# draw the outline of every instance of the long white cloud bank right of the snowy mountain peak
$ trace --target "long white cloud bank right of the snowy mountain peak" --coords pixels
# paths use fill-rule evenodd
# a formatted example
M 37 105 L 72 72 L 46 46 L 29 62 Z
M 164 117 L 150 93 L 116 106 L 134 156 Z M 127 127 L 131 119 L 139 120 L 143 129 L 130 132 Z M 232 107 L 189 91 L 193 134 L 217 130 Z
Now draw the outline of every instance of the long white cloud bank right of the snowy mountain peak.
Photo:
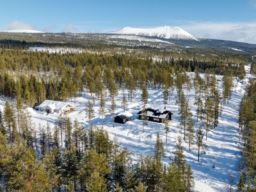
M 180 26 L 195 36 L 256 44 L 256 22 L 191 22 Z

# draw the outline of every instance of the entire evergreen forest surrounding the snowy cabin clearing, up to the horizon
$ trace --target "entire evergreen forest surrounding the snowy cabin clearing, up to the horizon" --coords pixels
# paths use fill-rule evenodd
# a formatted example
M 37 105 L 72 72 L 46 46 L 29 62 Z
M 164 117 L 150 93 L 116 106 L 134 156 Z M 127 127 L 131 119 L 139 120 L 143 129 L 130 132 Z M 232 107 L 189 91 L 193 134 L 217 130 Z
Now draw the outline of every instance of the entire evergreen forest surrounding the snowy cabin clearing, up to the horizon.
M 196 143 L 200 161 L 207 133 L 218 126 L 221 109 L 232 97 L 232 79 L 243 81 L 248 63 L 252 63 L 252 74 L 256 70 L 255 52 L 216 49 L 213 45 L 188 48 L 182 46 L 185 43 L 189 44 L 142 45 L 104 34 L 0 33 L 0 97 L 5 102 L 0 110 L 0 190 L 193 191 L 193 172 L 182 142 L 189 143 L 189 150 Z M 222 92 L 218 81 L 223 82 Z M 147 88 L 163 89 L 164 104 L 173 88 L 177 89 L 182 137 L 177 138 L 173 159 L 166 157 L 165 141 L 159 134 L 154 154 L 141 154 L 134 162 L 129 148 L 120 147 L 118 136 L 111 139 L 103 122 L 102 127 L 91 123 L 84 127 L 60 115 L 54 129 L 49 125 L 35 127 L 26 111 L 45 99 L 76 102 L 86 92 L 99 100 L 102 116 L 106 112 L 104 99 L 110 95 L 109 111 L 114 115 L 119 90 L 128 92 L 122 102 L 125 111 L 136 90 L 141 90 L 141 103 L 147 105 Z M 196 132 L 185 97 L 190 88 L 195 89 L 197 122 L 201 122 Z M 93 101 L 84 106 L 89 120 L 93 118 L 92 106 Z M 256 188 L 255 113 L 256 83 L 251 79 L 237 119 L 243 143 L 239 146 L 237 191 Z M 166 122 L 166 138 L 169 128 Z M 168 164 L 163 159 L 168 159 Z

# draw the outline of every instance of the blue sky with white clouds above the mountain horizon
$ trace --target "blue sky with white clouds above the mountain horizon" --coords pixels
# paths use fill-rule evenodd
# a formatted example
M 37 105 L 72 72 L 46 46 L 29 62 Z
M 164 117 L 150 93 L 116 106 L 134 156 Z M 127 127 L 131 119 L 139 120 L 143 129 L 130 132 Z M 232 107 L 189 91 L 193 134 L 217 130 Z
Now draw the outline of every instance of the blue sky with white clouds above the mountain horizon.
M 1 0 L 0 8 L 0 30 L 178 26 L 195 36 L 256 44 L 256 0 Z

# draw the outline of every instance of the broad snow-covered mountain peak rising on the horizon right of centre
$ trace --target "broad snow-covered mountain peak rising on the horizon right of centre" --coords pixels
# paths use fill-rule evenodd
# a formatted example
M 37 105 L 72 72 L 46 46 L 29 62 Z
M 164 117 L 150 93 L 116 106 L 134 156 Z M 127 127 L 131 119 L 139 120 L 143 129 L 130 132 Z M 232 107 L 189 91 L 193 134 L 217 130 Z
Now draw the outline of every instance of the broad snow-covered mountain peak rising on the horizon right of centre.
M 184 40 L 199 40 L 198 37 L 180 29 L 178 27 L 163 26 L 157 28 L 122 28 L 109 33 L 123 35 L 141 35 L 141 36 L 157 36 L 160 38 L 175 38 Z

